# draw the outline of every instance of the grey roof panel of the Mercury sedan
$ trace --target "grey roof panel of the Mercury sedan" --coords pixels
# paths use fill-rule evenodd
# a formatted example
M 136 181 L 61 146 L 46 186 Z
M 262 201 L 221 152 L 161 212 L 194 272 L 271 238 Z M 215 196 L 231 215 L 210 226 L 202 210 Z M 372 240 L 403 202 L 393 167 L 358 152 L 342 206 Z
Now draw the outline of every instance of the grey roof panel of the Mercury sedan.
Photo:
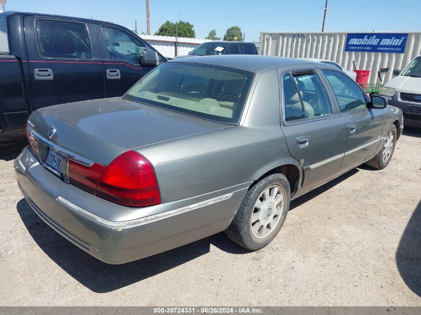
M 220 56 L 198 56 L 183 59 L 175 59 L 172 62 L 196 63 L 226 68 L 233 68 L 248 72 L 257 73 L 266 69 L 313 65 L 312 62 L 303 59 L 285 58 L 276 56 L 261 55 L 220 55 Z

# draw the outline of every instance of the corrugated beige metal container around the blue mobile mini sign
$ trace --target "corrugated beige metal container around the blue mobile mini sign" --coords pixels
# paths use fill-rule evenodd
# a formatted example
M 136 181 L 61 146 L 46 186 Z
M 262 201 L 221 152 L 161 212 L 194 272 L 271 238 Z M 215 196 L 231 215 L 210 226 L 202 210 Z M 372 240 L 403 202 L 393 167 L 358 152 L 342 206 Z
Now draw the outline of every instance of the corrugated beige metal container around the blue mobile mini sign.
M 378 33 L 398 32 L 373 32 L 373 34 Z M 291 58 L 328 59 L 348 70 L 354 70 L 352 61 L 355 60 L 357 69 L 371 70 L 369 83 L 380 83 L 377 72 L 381 68 L 390 68 L 384 78 L 384 83 L 388 82 L 392 79 L 394 69 L 402 70 L 413 58 L 421 54 L 421 32 L 408 32 L 405 53 L 403 54 L 345 51 L 347 34 L 342 32 L 261 32 L 259 54 Z

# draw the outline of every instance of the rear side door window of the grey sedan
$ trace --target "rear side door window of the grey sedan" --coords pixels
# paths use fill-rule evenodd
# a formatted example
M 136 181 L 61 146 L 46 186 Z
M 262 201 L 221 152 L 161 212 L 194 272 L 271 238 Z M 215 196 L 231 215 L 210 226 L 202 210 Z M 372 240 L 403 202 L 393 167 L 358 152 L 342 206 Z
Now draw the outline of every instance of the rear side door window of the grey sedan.
M 285 75 L 283 95 L 285 121 L 332 113 L 326 90 L 313 71 Z

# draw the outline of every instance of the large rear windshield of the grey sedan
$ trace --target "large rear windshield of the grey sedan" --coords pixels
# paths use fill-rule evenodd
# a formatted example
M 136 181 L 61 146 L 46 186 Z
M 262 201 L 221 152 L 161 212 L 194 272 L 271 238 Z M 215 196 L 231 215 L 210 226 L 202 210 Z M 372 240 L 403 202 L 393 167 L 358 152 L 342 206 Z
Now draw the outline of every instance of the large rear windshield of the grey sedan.
M 230 68 L 168 62 L 144 76 L 125 99 L 236 124 L 253 74 Z

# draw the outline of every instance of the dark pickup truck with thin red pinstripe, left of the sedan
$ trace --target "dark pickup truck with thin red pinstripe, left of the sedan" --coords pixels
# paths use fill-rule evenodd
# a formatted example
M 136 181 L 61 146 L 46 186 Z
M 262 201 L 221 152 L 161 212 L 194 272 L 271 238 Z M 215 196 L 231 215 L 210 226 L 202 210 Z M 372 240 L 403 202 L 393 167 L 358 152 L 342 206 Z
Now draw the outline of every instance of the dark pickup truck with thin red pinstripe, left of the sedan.
M 0 13 L 0 132 L 41 107 L 122 96 L 166 59 L 129 29 L 75 17 Z

